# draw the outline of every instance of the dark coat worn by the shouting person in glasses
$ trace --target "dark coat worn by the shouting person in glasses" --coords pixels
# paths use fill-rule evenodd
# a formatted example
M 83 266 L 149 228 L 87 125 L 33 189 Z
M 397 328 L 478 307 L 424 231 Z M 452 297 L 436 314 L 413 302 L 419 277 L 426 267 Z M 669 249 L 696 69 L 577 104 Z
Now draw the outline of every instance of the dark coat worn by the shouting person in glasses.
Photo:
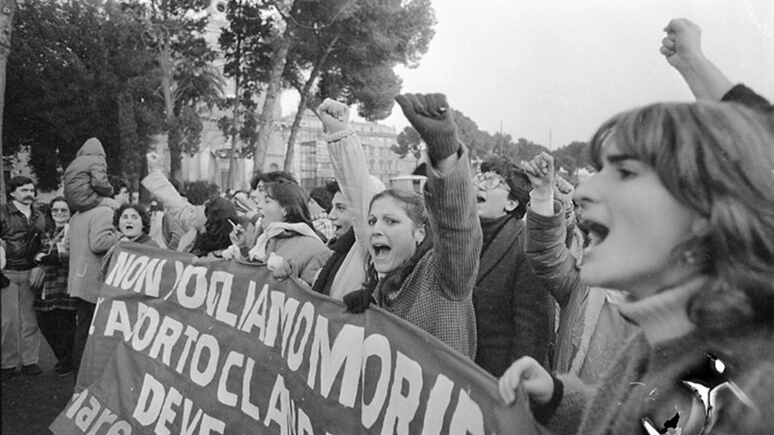
M 531 356 L 548 367 L 555 305 L 524 254 L 524 221 L 509 219 L 481 253 L 473 304 L 476 364 L 501 376 L 511 363 Z

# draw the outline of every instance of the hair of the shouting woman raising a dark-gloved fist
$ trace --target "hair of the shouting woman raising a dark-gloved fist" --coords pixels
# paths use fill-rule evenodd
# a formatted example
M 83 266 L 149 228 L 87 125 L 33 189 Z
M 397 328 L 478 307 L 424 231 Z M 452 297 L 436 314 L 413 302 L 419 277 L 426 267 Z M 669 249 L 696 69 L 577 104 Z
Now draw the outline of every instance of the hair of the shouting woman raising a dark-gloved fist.
M 377 284 L 381 281 L 381 293 L 382 295 L 393 293 L 397 291 L 403 282 L 408 278 L 411 272 L 414 271 L 414 267 L 419 260 L 427 254 L 433 248 L 433 232 L 432 227 L 428 221 L 427 209 L 425 208 L 425 200 L 422 195 L 414 192 L 409 192 L 401 189 L 387 189 L 383 190 L 371 199 L 370 208 L 373 207 L 374 202 L 382 198 L 394 199 L 408 215 L 409 219 L 414 222 L 414 225 L 419 228 L 425 226 L 425 238 L 417 245 L 416 251 L 411 258 L 404 261 L 400 266 L 394 270 L 387 272 L 387 274 L 379 280 L 376 273 L 376 269 L 373 263 L 368 262 L 368 269 L 366 270 L 366 279 L 363 283 L 363 288 L 371 292 L 376 289 Z

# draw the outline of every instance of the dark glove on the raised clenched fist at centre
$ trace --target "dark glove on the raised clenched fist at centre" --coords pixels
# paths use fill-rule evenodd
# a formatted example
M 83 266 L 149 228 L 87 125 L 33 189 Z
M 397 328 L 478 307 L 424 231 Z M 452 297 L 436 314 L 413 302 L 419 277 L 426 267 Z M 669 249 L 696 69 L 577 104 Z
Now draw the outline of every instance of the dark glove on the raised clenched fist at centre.
M 427 155 L 433 166 L 459 151 L 457 124 L 446 102 L 446 95 L 403 94 L 396 95 L 395 101 L 427 144 Z

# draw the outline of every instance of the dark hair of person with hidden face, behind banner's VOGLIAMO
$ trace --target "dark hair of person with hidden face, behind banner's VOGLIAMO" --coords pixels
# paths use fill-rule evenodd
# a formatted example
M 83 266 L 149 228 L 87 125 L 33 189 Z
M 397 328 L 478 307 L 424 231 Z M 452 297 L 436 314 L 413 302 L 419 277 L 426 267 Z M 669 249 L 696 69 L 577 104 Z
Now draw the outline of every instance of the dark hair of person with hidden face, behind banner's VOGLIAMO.
M 207 218 L 204 224 L 205 232 L 196 236 L 191 249 L 191 253 L 199 257 L 228 248 L 231 245 L 229 234 L 233 229 L 229 221 L 235 224 L 239 222 L 234 204 L 219 196 L 205 203 L 204 215 Z

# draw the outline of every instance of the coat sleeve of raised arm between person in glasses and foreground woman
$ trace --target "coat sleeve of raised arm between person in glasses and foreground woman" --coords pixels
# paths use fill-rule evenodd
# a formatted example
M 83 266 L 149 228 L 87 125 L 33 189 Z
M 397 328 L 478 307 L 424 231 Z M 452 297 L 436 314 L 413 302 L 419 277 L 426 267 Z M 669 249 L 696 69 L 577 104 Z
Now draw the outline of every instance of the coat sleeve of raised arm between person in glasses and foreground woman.
M 582 285 L 575 257 L 565 246 L 566 236 L 564 212 L 558 202 L 554 202 L 553 216 L 542 216 L 527 208 L 527 262 L 562 309 Z

